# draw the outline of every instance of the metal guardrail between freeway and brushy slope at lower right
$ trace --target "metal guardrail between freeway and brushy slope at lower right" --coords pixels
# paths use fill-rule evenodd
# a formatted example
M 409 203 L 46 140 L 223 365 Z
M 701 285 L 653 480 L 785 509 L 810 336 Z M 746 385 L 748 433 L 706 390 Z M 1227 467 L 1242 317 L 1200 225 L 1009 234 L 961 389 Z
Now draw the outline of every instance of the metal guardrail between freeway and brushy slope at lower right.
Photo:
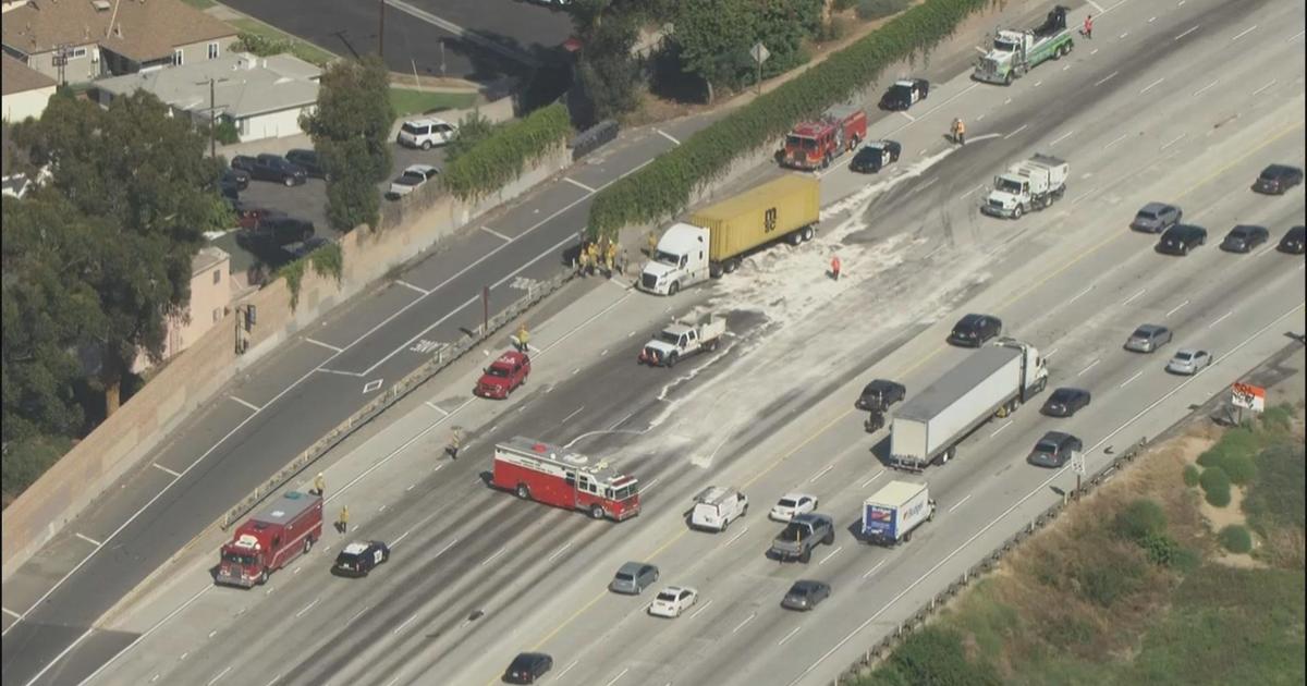
M 1070 493 L 1063 494 L 1061 500 L 1053 503 L 1051 507 L 1048 507 L 1039 515 L 1035 515 L 1035 517 L 1027 521 L 1021 531 L 1008 537 L 1008 540 L 1005 540 L 1002 544 L 995 547 L 988 555 L 985 555 L 984 559 L 982 559 L 976 564 L 972 564 L 966 571 L 963 571 L 962 575 L 954 579 L 953 583 L 950 583 L 944 591 L 936 593 L 931 598 L 931 602 L 928 602 L 924 608 L 918 610 L 916 614 L 908 617 L 906 621 L 895 626 L 893 634 L 885 636 L 878 643 L 868 648 L 863 653 L 863 657 L 853 661 L 853 664 L 851 664 L 847 669 L 844 669 L 844 672 L 842 672 L 839 676 L 835 677 L 834 682 L 835 686 L 839 686 L 840 682 L 853 682 L 857 678 L 867 676 L 867 673 L 873 666 L 876 666 L 881 660 L 889 657 L 890 652 L 894 648 L 897 648 L 908 636 L 908 634 L 924 626 L 925 621 L 932 614 L 935 614 L 938 609 L 944 608 L 944 605 L 949 601 L 949 598 L 961 593 L 967 587 L 967 584 L 975 581 L 985 572 L 993 571 L 999 566 L 999 562 L 1002 559 L 1002 557 L 1010 553 L 1013 549 L 1016 549 L 1017 545 L 1019 545 L 1026 538 L 1034 536 L 1035 532 L 1038 532 L 1039 529 L 1052 523 L 1055 519 L 1057 519 L 1057 515 L 1061 515 L 1064 511 L 1067 511 L 1067 508 L 1078 502 L 1080 498 L 1087 495 L 1098 486 L 1106 483 L 1110 478 L 1112 478 L 1116 474 L 1117 470 L 1133 463 L 1134 459 L 1138 457 L 1138 455 L 1144 451 L 1145 446 L 1148 446 L 1148 439 L 1141 438 L 1137 443 L 1127 448 L 1125 452 L 1120 453 L 1115 460 L 1108 463 L 1107 466 L 1104 466 L 1102 470 L 1099 470 L 1097 474 L 1089 478 L 1089 481 L 1082 483 L 1080 494 L 1070 494 Z

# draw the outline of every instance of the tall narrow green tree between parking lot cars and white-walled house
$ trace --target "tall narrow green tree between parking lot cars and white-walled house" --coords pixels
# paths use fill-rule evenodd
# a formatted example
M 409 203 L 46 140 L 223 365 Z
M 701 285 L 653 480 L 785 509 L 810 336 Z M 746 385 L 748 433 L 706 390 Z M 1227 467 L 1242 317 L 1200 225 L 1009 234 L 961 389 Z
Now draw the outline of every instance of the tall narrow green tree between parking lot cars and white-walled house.
M 327 68 L 318 108 L 299 124 L 323 157 L 328 220 L 336 229 L 376 226 L 380 200 L 374 184 L 391 172 L 393 123 L 389 80 L 380 57 L 370 55 Z

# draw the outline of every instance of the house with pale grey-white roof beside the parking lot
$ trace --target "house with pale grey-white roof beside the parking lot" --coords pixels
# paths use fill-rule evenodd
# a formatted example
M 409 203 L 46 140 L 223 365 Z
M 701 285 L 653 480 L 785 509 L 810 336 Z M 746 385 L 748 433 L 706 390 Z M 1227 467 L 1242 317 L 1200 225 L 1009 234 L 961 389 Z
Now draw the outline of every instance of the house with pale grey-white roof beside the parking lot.
M 103 78 L 95 82 L 95 97 L 107 106 L 116 97 L 146 90 L 174 112 L 201 123 L 216 112 L 220 120 L 235 124 L 242 141 L 254 141 L 301 133 L 299 115 L 316 107 L 319 78 L 320 68 L 293 55 L 233 54 Z

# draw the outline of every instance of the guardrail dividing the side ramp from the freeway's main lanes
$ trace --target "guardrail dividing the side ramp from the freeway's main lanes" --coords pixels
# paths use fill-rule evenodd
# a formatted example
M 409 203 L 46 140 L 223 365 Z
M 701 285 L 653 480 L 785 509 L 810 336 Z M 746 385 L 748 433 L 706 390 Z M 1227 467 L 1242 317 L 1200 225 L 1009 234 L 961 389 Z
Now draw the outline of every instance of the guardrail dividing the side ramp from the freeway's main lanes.
M 561 289 L 565 284 L 571 281 L 574 276 L 574 270 L 566 269 L 548 281 L 531 282 L 527 289 L 527 295 L 514 301 L 508 304 L 508 307 L 491 316 L 486 324 L 478 327 L 474 336 L 465 337 L 457 344 L 440 346 L 431 359 L 422 363 L 422 366 L 409 372 L 408 376 L 404 376 L 393 385 L 383 391 L 379 396 L 372 399 L 371 402 L 363 405 L 358 412 L 336 425 L 335 429 L 324 434 L 314 442 L 312 446 L 297 455 L 295 459 L 293 459 L 286 466 L 277 470 L 277 473 L 268 478 L 268 481 L 263 482 L 259 487 L 237 503 L 235 507 L 229 510 L 218 521 L 218 527 L 223 531 L 230 528 L 240 517 L 246 516 L 260 502 L 263 502 L 264 498 L 280 490 L 288 481 L 294 478 L 295 474 L 303 472 L 306 466 L 316 461 L 323 455 L 327 455 L 328 451 L 349 438 L 349 435 L 357 431 L 361 426 L 376 418 L 376 416 L 386 412 L 391 405 L 399 402 L 400 399 L 409 395 L 442 370 L 456 362 L 464 353 L 476 348 L 481 344 L 481 341 L 485 341 L 494 335 L 494 332 L 518 319 L 523 312 L 542 301 L 546 295 Z

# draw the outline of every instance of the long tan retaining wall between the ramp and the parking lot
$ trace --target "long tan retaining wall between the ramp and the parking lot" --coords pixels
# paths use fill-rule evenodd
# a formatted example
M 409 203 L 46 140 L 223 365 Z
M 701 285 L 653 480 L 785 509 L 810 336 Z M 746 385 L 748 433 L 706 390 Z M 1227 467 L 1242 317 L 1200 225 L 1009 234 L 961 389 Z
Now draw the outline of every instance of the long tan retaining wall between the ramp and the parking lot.
M 431 192 L 423 199 L 414 199 L 429 204 L 425 212 L 413 212 L 420 208 L 410 205 L 403 214 L 387 217 L 393 223 L 383 220 L 379 231 L 367 227 L 350 231 L 340 242 L 344 253 L 341 281 L 319 276 L 312 267 L 306 267 L 299 303 L 294 310 L 284 278 L 242 299 L 239 304 L 257 308 L 257 324 L 247 335 L 250 346 L 244 355 L 235 353 L 238 318 L 233 311 L 173 358 L 145 388 L 5 508 L 0 533 L 3 579 L 8 579 L 106 489 L 140 466 L 144 457 L 242 370 L 383 278 L 391 269 L 448 239 L 472 218 L 528 192 L 569 163 L 569 150 L 559 144 L 531 165 L 516 182 L 488 197 L 463 203 Z M 192 457 L 199 460 L 201 455 Z

